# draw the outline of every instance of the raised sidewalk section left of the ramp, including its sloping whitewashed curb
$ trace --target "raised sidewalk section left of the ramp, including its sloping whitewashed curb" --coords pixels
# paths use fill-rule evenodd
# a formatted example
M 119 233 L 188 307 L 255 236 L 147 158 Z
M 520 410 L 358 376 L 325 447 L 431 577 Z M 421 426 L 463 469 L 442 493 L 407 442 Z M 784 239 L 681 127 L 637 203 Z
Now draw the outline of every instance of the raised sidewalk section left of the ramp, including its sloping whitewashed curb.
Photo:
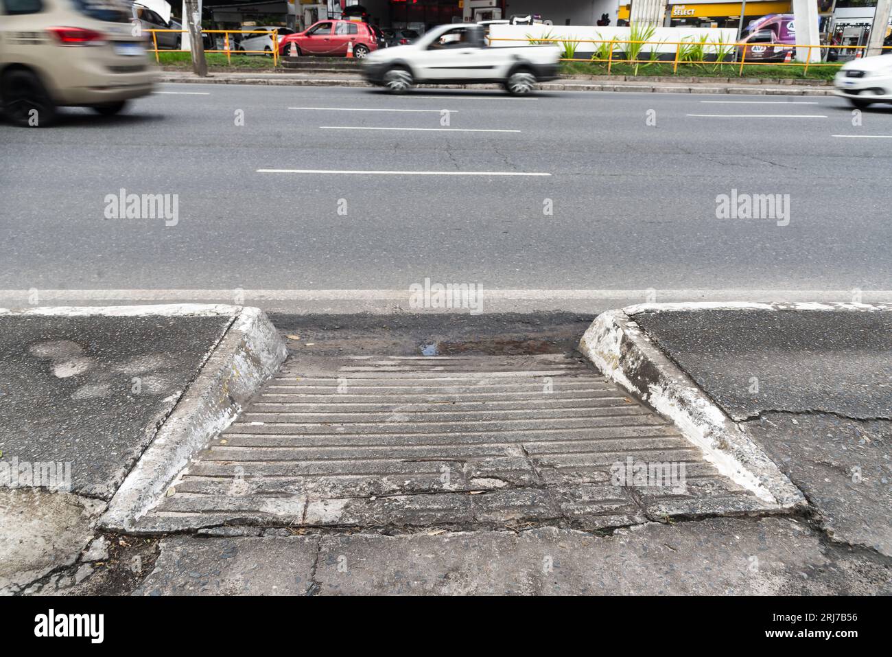
M 285 359 L 240 306 L 0 310 L 0 328 L 2 594 L 86 578 L 106 501 L 106 526 L 129 518 Z

